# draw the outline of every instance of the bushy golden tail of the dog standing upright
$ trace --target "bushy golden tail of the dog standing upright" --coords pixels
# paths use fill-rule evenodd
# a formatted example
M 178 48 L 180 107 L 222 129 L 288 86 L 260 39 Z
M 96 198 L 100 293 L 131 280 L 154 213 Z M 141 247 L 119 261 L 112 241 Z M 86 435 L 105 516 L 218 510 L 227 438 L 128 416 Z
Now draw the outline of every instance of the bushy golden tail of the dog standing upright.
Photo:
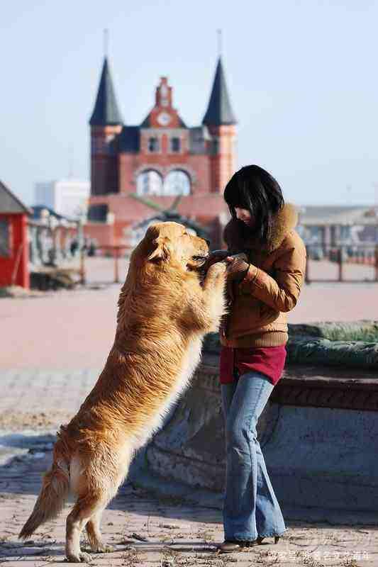
M 50 471 L 43 477 L 40 495 L 28 521 L 21 529 L 18 536 L 20 539 L 28 539 L 40 524 L 54 520 L 62 511 L 70 490 L 70 476 L 68 469 L 60 465 L 61 462 L 57 460 L 57 446 L 55 445 L 54 462 Z

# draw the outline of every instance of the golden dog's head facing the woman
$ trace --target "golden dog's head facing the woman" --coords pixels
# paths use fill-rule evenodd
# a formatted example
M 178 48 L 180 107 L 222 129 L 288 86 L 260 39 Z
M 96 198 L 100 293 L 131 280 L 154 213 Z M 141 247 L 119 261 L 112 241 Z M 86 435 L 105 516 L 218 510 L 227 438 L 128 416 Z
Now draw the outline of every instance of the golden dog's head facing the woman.
M 206 240 L 191 235 L 184 225 L 172 222 L 151 225 L 138 249 L 143 262 L 177 267 L 179 264 L 185 270 L 201 269 L 209 255 Z

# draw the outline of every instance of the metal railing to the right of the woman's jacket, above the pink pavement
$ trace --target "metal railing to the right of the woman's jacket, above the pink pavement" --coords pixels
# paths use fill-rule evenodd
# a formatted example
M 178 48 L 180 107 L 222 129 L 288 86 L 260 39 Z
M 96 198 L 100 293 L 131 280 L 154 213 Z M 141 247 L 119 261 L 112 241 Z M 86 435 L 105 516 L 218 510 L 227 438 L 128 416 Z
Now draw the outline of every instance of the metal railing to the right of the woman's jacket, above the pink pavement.
M 378 282 L 378 245 L 306 245 L 306 283 Z M 333 267 L 335 269 L 333 269 Z

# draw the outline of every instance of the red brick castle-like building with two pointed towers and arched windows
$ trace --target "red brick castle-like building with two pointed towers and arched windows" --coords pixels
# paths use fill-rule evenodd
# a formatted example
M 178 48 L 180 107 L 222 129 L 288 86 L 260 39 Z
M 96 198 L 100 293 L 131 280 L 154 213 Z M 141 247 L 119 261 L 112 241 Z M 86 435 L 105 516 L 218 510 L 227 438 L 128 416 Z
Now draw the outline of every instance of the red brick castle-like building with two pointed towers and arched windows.
M 153 211 L 132 195 L 168 207 L 209 229 L 220 244 L 228 211 L 223 189 L 235 171 L 235 116 L 221 58 L 201 125 L 188 127 L 160 79 L 155 104 L 140 125 L 126 125 L 105 58 L 91 126 L 91 198 L 87 235 L 99 244 L 127 244 L 130 227 Z

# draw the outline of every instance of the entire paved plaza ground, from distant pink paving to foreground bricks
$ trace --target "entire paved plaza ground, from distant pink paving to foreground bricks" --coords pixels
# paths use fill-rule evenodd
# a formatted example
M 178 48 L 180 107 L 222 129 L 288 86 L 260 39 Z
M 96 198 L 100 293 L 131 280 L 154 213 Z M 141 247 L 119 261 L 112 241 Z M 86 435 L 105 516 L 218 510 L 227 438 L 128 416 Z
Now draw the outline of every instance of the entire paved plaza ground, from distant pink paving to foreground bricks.
M 111 279 L 92 264 L 91 284 Z M 124 266 L 123 266 L 124 270 Z M 108 276 L 109 274 L 109 276 Z M 90 390 L 113 341 L 120 286 L 0 300 L 0 563 L 61 564 L 64 521 L 16 539 L 33 507 L 40 476 L 51 459 L 53 434 Z M 311 284 L 291 322 L 378 319 L 377 284 Z M 217 510 L 152 497 L 125 485 L 106 510 L 104 533 L 116 552 L 93 556 L 104 566 L 377 566 L 378 531 L 372 526 L 289 522 L 277 546 L 263 544 L 231 556 L 216 554 L 223 539 Z M 140 537 L 148 541 L 140 541 Z

